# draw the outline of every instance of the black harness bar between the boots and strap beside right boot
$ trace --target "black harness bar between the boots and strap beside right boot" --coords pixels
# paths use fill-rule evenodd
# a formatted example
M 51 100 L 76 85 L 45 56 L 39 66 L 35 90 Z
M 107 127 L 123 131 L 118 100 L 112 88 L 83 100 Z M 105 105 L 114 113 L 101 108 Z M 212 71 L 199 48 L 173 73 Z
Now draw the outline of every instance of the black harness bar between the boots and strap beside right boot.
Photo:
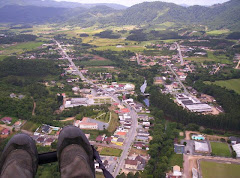
M 99 153 L 97 150 L 94 148 L 92 145 L 93 149 L 93 159 L 99 164 L 99 168 L 102 169 L 103 175 L 105 178 L 113 178 L 113 176 L 110 174 L 110 172 L 105 168 L 105 166 L 102 163 L 102 160 L 99 156 Z M 38 164 L 43 165 L 43 164 L 48 164 L 48 163 L 53 163 L 57 162 L 57 152 L 48 152 L 48 153 L 42 153 L 38 155 Z

